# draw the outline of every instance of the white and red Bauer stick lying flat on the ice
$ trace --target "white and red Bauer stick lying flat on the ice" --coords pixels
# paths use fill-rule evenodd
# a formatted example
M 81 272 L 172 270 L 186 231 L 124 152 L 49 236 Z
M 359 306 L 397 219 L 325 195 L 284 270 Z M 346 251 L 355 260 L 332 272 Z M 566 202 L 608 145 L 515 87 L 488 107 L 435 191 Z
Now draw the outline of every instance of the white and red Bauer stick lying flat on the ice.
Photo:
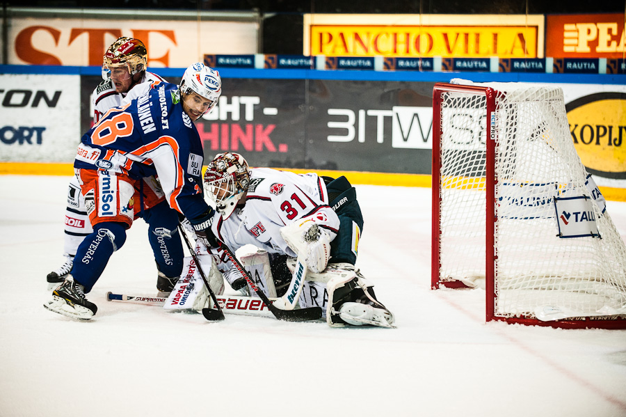
M 216 295 L 218 303 L 224 313 L 236 315 L 248 315 L 255 317 L 274 317 L 266 304 L 259 297 L 248 297 L 244 295 Z M 144 306 L 161 306 L 168 301 L 166 297 L 145 297 L 143 295 L 106 293 L 107 301 L 120 301 L 130 304 L 143 304 Z M 270 301 L 275 300 L 271 298 Z M 213 304 L 213 300 L 211 300 Z M 179 309 L 184 311 L 185 309 Z M 173 309 L 172 311 L 176 311 Z

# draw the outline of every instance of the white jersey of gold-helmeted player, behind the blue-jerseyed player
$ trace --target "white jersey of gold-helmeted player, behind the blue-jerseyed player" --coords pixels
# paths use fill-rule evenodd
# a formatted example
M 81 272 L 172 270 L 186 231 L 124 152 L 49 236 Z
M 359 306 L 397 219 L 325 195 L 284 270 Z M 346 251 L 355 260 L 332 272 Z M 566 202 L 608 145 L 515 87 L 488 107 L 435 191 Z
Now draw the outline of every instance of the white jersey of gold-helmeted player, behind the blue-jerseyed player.
M 98 123 L 102 115 L 113 109 L 131 102 L 140 95 L 144 95 L 153 83 L 166 82 L 165 79 L 153 72 L 144 72 L 141 80 L 132 86 L 127 93 L 118 93 L 111 79 L 105 79 L 91 93 L 91 104 L 93 106 L 93 123 Z

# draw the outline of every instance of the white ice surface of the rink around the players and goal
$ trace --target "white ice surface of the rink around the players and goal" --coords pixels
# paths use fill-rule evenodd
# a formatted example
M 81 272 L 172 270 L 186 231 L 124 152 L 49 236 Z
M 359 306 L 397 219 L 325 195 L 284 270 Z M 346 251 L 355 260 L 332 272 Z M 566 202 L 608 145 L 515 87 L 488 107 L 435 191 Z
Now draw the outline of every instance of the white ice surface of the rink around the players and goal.
M 141 220 L 91 322 L 45 310 L 66 188 L 0 175 L 0 416 L 626 416 L 626 331 L 485 324 L 483 290 L 429 289 L 430 189 L 358 186 L 358 266 L 398 329 L 331 329 L 106 301 L 155 294 Z

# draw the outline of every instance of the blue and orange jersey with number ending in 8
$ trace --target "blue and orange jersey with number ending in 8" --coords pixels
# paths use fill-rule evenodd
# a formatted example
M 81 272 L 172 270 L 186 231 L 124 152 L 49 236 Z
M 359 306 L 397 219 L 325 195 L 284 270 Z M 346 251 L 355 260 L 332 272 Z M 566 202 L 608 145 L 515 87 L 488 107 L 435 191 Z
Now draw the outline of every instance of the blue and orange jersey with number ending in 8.
M 81 139 L 74 168 L 159 175 L 168 203 L 188 219 L 209 209 L 202 198 L 202 142 L 178 86 L 159 83 L 107 111 Z

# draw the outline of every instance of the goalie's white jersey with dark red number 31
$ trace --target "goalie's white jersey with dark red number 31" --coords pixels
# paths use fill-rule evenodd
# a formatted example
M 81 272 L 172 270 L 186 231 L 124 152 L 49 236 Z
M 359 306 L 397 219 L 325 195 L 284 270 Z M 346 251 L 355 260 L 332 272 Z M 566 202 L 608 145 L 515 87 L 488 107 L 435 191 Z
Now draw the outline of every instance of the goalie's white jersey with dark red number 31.
M 284 241 L 280 229 L 304 218 L 313 219 L 331 241 L 337 236 L 339 217 L 328 205 L 326 184 L 316 173 L 252 168 L 246 205 L 226 220 L 216 214 L 212 229 L 232 251 L 252 244 L 269 253 L 295 257 L 297 254 Z M 225 261 L 225 257 L 220 258 Z M 224 263 L 227 265 L 220 265 L 220 270 L 232 266 L 230 261 Z

